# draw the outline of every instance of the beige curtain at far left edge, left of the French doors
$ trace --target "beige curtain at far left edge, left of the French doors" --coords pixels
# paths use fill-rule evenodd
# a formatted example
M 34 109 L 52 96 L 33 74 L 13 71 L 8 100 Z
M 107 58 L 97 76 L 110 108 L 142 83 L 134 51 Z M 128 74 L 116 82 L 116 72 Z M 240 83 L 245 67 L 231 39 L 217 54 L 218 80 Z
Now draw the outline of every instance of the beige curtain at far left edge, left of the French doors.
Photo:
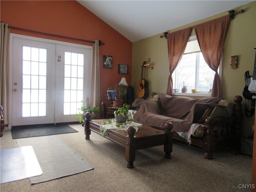
M 0 53 L 1 53 L 1 63 L 0 63 L 0 105 L 3 107 L 4 124 L 8 124 L 8 107 L 9 97 L 8 97 L 8 78 L 9 78 L 9 64 L 8 64 L 8 52 L 9 52 L 9 38 L 10 38 L 10 28 L 8 24 L 0 23 Z

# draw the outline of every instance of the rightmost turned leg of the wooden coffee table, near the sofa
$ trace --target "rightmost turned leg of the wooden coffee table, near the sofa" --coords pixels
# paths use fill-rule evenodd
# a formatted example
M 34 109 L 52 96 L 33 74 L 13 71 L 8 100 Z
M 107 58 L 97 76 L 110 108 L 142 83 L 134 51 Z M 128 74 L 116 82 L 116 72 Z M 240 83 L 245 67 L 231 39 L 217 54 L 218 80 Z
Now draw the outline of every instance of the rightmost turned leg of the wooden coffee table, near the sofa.
M 165 156 L 164 158 L 170 159 L 171 158 L 171 152 L 172 152 L 172 138 L 173 138 L 173 132 L 172 132 L 172 123 L 168 122 L 165 124 L 165 133 L 166 133 L 166 144 L 164 144 L 164 152 Z

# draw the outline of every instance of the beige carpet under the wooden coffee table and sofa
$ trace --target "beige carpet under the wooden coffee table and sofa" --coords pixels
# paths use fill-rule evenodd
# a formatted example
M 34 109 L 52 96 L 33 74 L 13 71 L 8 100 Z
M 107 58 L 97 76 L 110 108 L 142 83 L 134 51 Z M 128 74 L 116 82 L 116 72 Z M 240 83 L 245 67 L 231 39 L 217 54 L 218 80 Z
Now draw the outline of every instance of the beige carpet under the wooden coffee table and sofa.
M 136 151 L 134 168 L 126 168 L 125 149 L 92 132 L 85 140 L 84 127 L 71 125 L 78 133 L 57 135 L 84 158 L 94 170 L 30 184 L 29 179 L 0 185 L 1 192 L 250 192 L 252 160 L 229 151 L 215 152 L 213 160 L 203 152 L 174 144 L 172 158 L 165 159 L 163 146 Z M 0 138 L 1 149 L 17 147 L 10 131 Z

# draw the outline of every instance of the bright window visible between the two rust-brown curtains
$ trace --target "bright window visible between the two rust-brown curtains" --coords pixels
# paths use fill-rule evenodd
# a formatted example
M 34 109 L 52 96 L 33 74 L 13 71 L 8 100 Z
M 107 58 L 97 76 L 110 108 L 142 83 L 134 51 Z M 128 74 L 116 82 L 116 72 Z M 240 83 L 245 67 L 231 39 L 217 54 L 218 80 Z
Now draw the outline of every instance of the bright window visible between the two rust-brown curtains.
M 184 55 L 174 70 L 174 92 L 181 92 L 187 87 L 187 93 L 196 89 L 197 93 L 208 93 L 212 89 L 215 72 L 206 64 L 199 48 L 196 36 L 191 36 L 184 51 Z

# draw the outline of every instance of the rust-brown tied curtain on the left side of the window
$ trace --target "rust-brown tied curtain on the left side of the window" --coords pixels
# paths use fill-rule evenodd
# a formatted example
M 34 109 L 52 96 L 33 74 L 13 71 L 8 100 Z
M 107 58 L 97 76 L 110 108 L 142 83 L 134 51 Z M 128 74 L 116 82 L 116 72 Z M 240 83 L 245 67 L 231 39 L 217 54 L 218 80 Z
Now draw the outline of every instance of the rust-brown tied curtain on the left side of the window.
M 169 70 L 170 70 L 170 75 L 168 78 L 168 85 L 167 85 L 167 94 L 170 96 L 173 95 L 172 73 L 174 72 L 178 63 L 182 59 L 183 53 L 188 43 L 190 31 L 191 31 L 191 28 L 186 28 L 184 30 L 167 34 Z

